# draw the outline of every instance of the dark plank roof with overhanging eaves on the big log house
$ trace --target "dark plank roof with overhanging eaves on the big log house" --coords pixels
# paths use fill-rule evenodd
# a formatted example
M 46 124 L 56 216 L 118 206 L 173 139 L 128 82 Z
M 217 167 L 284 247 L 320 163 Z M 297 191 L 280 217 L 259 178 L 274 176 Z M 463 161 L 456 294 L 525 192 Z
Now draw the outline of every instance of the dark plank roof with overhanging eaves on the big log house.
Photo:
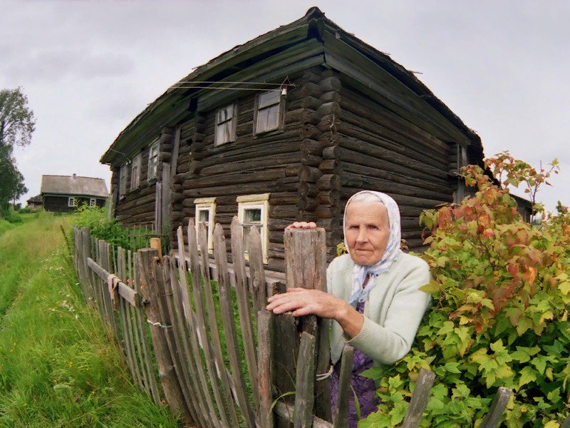
M 311 7 L 301 19 L 279 26 L 245 44 L 234 46 L 229 51 L 195 68 L 192 73 L 170 86 L 119 133 L 108 151 L 100 158 L 100 162 L 108 164 L 123 162 L 125 158 L 129 158 L 129 153 L 125 152 L 130 151 L 131 146 L 140 144 L 140 141 L 147 136 L 156 137 L 162 126 L 172 126 L 181 118 L 190 117 L 192 102 L 198 101 L 199 103 L 199 97 L 207 91 L 212 91 L 204 88 L 190 88 L 189 83 L 201 82 L 199 86 L 208 86 L 210 83 L 203 82 L 224 82 L 225 80 L 227 88 L 231 88 L 232 85 L 237 86 L 230 82 L 237 81 L 237 76 L 243 78 L 241 81 L 246 81 L 252 73 L 246 75 L 242 71 L 247 70 L 248 67 L 259 65 L 259 61 L 288 49 L 294 50 L 295 46 L 308 44 L 311 40 L 318 42 L 321 46 L 320 51 L 317 49 L 314 51 L 313 59 L 316 59 L 318 63 L 337 68 L 343 73 L 351 73 L 350 64 L 358 61 L 359 65 L 362 64 L 374 70 L 374 75 L 368 76 L 371 78 L 370 81 L 363 81 L 367 78 L 363 73 L 351 77 L 357 81 L 360 80 L 368 88 L 371 88 L 371 83 L 376 83 L 372 85 L 373 91 L 387 97 L 398 108 L 411 109 L 417 116 L 418 123 L 430 123 L 430 126 L 432 123 L 437 123 L 436 128 L 441 127 L 438 131 L 443 135 L 442 140 L 471 146 L 471 150 L 477 151 L 477 157 L 482 158 L 480 137 L 465 126 L 465 123 L 445 106 L 413 72 L 393 61 L 390 56 L 341 29 L 340 26 L 327 19 L 317 7 Z M 311 66 L 313 65 L 316 65 L 315 61 L 311 62 Z M 261 72 L 259 74 L 261 76 Z M 375 81 L 375 79 L 378 80 Z M 396 91 L 385 90 L 383 85 L 386 81 L 390 81 L 390 85 L 398 90 L 398 94 L 395 94 Z M 222 92 L 225 95 L 231 91 Z M 442 124 L 443 122 L 447 125 Z M 141 128 L 150 129 L 142 131 Z

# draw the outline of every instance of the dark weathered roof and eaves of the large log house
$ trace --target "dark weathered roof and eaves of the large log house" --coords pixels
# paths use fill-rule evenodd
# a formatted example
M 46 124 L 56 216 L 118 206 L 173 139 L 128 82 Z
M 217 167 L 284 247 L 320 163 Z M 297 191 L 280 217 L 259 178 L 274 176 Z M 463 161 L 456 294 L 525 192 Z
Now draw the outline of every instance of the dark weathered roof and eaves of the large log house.
M 262 34 L 245 44 L 234 46 L 229 51 L 220 54 L 202 66 L 195 68 L 185 78 L 170 86 L 161 96 L 150 103 L 129 125 L 119 133 L 113 144 L 101 156 L 101 163 L 115 163 L 125 158 L 125 151 L 131 144 L 137 141 L 144 141 L 150 135 L 158 135 L 160 127 L 169 126 L 169 122 L 180 121 L 180 116 L 187 116 L 192 110 L 192 99 L 197 101 L 197 97 L 212 88 L 212 82 L 224 83 L 224 88 L 230 89 L 239 86 L 238 82 L 227 81 L 232 76 L 237 76 L 239 71 L 259 63 L 262 59 L 275 54 L 276 52 L 289 49 L 295 44 L 299 44 L 308 38 L 315 38 L 323 44 L 323 54 L 319 57 L 324 65 L 332 66 L 335 62 L 333 51 L 358 52 L 364 61 L 375 63 L 383 73 L 390 75 L 400 82 L 403 98 L 396 99 L 393 94 L 388 94 L 388 98 L 398 105 L 412 101 L 415 106 L 415 114 L 418 120 L 430 121 L 431 118 L 443 116 L 450 127 L 445 129 L 448 135 L 452 135 L 462 146 L 472 146 L 482 155 L 482 143 L 475 131 L 468 128 L 461 119 L 453 113 L 439 98 L 437 98 L 427 86 L 425 86 L 414 74 L 399 63 L 393 61 L 388 54 L 366 44 L 358 39 L 354 34 L 341 29 L 340 26 L 325 17 L 325 14 L 317 7 L 311 7 L 306 14 L 291 22 L 279 26 L 277 29 Z M 329 50 L 331 54 L 329 54 Z M 329 63 L 329 61 L 331 63 Z M 199 83 L 199 84 L 197 84 Z M 192 87 L 195 86 L 195 87 Z M 383 93 L 385 89 L 375 84 L 375 91 Z M 216 86 L 213 86 L 214 88 Z M 408 101 L 403 101 L 403 100 Z M 430 106 L 435 112 L 428 112 L 425 116 L 425 107 Z M 199 109 L 199 106 L 198 106 Z M 166 122 L 166 123 L 165 123 Z M 128 159 L 128 158 L 127 158 Z

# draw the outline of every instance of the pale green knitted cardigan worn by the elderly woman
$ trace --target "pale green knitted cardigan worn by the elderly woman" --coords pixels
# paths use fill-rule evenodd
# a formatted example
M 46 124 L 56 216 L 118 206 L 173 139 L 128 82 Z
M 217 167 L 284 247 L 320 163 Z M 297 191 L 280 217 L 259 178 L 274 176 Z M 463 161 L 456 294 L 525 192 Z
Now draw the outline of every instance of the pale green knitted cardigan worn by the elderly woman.
M 354 262 L 350 255 L 334 259 L 326 271 L 328 292 L 348 302 Z M 341 357 L 343 346 L 372 358 L 376 365 L 400 360 L 412 347 L 415 333 L 430 304 L 430 295 L 418 290 L 430 282 L 430 269 L 422 259 L 402 253 L 390 270 L 376 277 L 376 285 L 364 306 L 364 325 L 348 340 L 338 322 L 331 321 L 331 360 Z

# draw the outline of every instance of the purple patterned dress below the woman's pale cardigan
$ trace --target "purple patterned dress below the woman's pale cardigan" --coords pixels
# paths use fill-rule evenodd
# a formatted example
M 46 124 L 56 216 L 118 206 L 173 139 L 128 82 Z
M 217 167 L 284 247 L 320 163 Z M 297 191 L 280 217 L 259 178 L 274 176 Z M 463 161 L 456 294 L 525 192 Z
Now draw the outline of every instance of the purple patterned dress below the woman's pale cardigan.
M 358 312 L 364 312 L 364 302 L 358 302 L 356 305 Z M 376 384 L 373 379 L 362 377 L 360 374 L 364 370 L 373 367 L 374 362 L 371 358 L 366 357 L 359 350 L 354 350 L 354 359 L 351 374 L 351 387 L 348 391 L 348 428 L 356 428 L 358 424 L 358 415 L 356 414 L 356 404 L 354 395 L 358 397 L 358 406 L 360 407 L 361 419 L 364 419 L 375 412 L 380 404 L 380 399 L 376 396 Z M 336 417 L 336 406 L 338 403 L 338 379 L 341 374 L 341 359 L 339 359 L 333 367 L 331 374 L 331 409 L 333 412 L 333 420 Z

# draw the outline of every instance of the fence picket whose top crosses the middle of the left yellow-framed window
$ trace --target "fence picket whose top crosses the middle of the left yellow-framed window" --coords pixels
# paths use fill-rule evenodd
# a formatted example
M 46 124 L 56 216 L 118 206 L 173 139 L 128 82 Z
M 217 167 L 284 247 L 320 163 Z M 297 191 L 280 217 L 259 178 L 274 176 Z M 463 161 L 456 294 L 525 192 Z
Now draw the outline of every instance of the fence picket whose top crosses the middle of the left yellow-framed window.
M 222 413 L 222 421 L 227 420 L 226 412 L 229 413 L 229 419 L 231 419 L 232 427 L 237 427 L 239 422 L 237 421 L 237 413 L 234 407 L 234 401 L 232 399 L 232 390 L 229 387 L 229 379 L 227 378 L 227 372 L 224 366 L 224 356 L 222 355 L 222 345 L 219 340 L 219 331 L 217 328 L 217 318 L 216 318 L 216 309 L 214 305 L 214 297 L 212 295 L 212 282 L 209 276 L 209 269 L 208 266 L 208 238 L 207 238 L 207 230 L 206 225 L 204 223 L 199 223 L 198 225 L 198 239 L 199 239 L 199 248 L 202 248 L 200 251 L 200 258 L 202 263 L 200 263 L 200 275 L 204 279 L 204 293 L 206 297 L 206 307 L 208 312 L 208 322 L 209 322 L 209 340 L 211 341 L 213 351 L 214 351 L 214 363 L 217 366 L 217 371 L 211 372 L 212 382 L 215 382 L 217 385 L 217 379 L 215 378 L 215 374 L 217 372 L 220 379 L 222 379 L 222 387 L 224 392 L 225 400 L 223 400 L 224 407 L 221 407 L 220 413 Z

